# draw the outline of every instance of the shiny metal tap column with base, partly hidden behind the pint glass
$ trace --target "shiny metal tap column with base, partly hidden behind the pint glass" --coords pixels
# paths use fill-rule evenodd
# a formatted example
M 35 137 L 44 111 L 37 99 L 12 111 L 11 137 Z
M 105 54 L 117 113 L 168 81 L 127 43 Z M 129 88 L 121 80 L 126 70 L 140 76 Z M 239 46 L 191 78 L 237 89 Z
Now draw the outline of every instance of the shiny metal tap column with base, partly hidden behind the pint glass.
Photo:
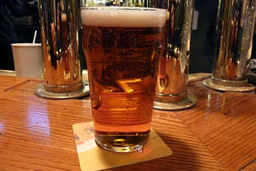
M 186 89 L 194 1 L 154 1 L 151 6 L 165 8 L 168 11 L 166 47 L 158 70 L 154 108 L 166 110 L 190 108 L 197 101 L 194 94 Z

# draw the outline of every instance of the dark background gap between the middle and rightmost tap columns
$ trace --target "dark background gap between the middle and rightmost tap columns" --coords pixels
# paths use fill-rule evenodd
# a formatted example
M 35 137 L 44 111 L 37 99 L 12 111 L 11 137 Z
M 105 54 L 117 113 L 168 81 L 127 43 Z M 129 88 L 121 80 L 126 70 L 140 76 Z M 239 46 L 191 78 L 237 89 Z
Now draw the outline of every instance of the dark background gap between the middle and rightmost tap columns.
M 217 12 L 218 0 L 195 0 L 194 9 L 198 11 L 197 30 L 191 34 L 190 73 L 211 73 L 213 65 L 213 44 L 211 30 L 214 26 L 214 15 Z

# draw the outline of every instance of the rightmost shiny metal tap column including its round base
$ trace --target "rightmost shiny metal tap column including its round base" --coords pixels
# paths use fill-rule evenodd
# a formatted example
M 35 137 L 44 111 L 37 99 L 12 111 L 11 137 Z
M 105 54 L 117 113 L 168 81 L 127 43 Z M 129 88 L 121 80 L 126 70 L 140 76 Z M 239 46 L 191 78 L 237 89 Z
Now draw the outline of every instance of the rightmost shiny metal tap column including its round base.
M 212 78 L 204 85 L 222 91 L 250 91 L 247 82 L 253 46 L 255 0 L 220 0 Z

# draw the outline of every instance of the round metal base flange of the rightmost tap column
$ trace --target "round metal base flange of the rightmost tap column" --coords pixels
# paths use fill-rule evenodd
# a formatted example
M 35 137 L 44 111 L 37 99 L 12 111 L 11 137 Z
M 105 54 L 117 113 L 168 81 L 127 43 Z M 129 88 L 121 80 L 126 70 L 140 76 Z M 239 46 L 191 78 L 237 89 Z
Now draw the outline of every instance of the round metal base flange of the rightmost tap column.
M 236 91 L 236 92 L 246 92 L 255 89 L 255 86 L 246 81 L 227 81 L 217 78 L 207 78 L 203 80 L 203 85 L 209 87 L 210 89 L 215 89 L 218 91 Z

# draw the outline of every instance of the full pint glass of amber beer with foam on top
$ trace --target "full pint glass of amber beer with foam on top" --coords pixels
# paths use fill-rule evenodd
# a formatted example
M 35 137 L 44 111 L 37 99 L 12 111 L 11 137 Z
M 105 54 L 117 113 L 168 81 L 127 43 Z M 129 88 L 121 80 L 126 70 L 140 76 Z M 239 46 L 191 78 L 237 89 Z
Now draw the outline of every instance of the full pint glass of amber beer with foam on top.
M 95 141 L 104 149 L 141 149 L 150 134 L 166 10 L 82 9 Z

